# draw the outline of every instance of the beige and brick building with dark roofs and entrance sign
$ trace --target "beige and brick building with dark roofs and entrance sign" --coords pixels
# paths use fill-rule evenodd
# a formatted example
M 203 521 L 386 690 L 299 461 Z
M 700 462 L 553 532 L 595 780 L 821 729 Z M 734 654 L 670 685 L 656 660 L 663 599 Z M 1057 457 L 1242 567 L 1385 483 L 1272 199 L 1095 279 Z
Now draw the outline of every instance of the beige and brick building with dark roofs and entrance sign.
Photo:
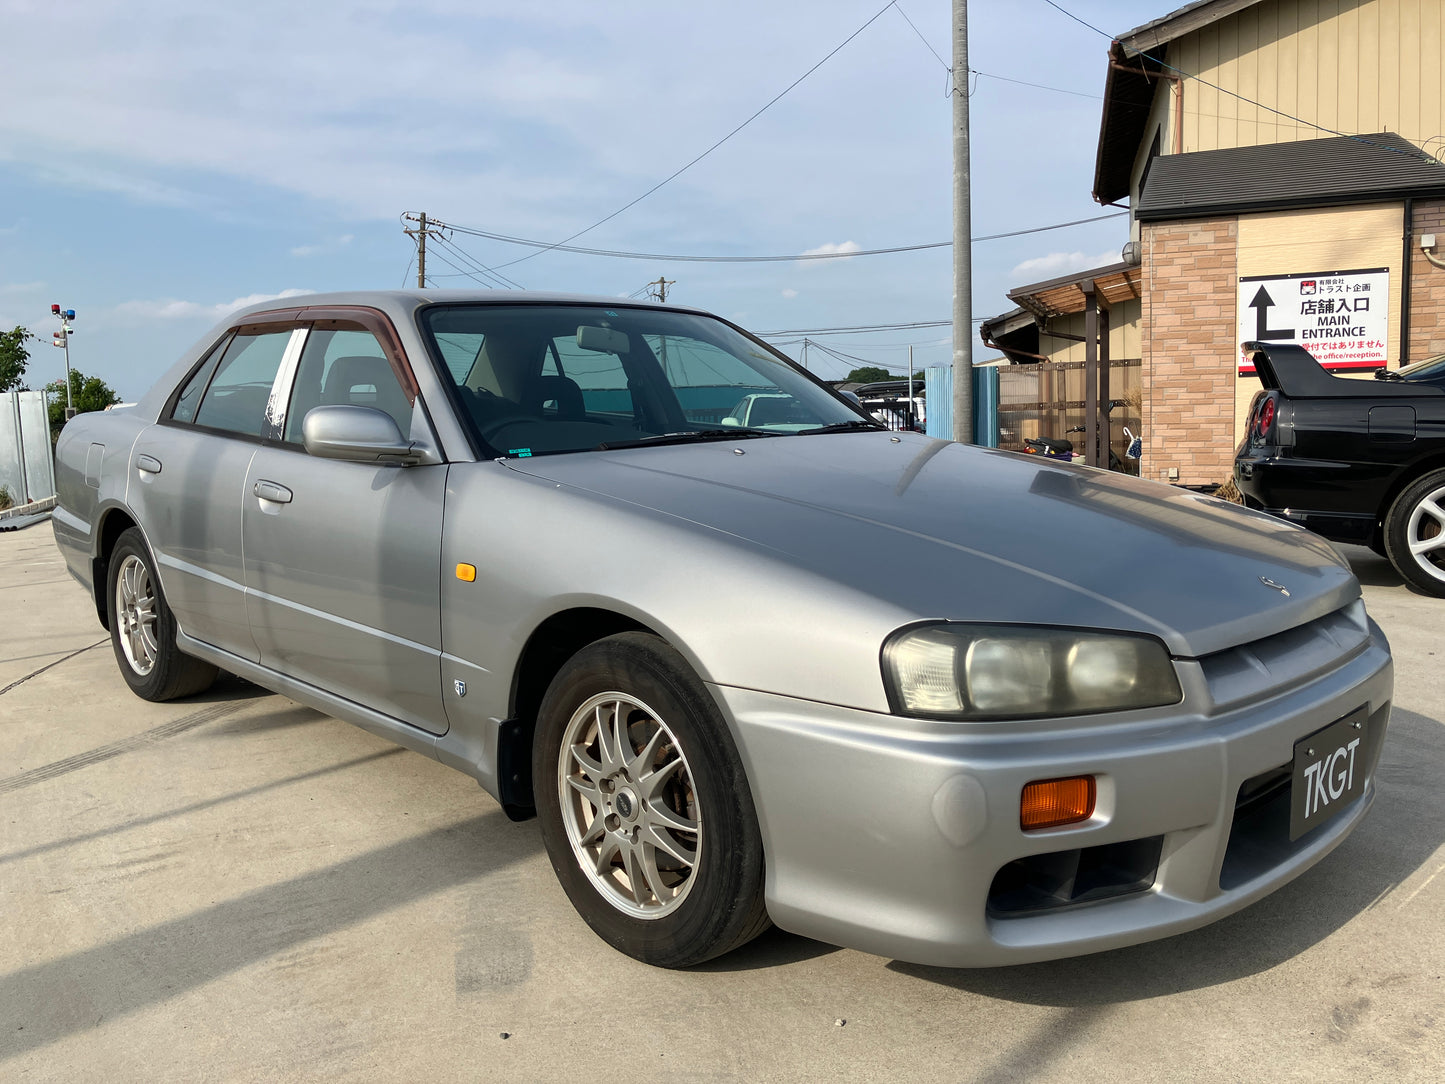
M 1039 304 L 1062 280 L 1022 286 L 984 341 L 1023 363 L 1137 343 L 1140 473 L 1183 483 L 1230 474 L 1259 389 L 1241 340 L 1361 376 L 1445 353 L 1442 52 L 1439 0 L 1202 0 L 1121 35 L 1094 197 L 1129 201 L 1131 241 L 1072 278 L 1131 267 L 1137 302 L 1091 344 Z

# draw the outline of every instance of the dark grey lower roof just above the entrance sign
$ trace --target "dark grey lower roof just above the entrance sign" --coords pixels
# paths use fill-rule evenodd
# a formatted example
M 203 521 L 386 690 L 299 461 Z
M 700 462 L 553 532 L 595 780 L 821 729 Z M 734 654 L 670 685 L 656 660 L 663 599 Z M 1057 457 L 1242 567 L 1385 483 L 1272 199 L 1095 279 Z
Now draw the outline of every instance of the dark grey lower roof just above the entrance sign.
M 1162 155 L 1140 221 L 1445 197 L 1445 165 L 1393 132 Z

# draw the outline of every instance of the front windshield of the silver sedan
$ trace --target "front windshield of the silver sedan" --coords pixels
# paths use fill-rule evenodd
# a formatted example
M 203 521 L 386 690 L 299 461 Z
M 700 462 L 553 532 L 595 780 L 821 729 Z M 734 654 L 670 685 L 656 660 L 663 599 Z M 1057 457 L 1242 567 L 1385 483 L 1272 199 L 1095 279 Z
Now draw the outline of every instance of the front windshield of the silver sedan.
M 419 324 L 496 455 L 871 428 L 790 361 L 709 317 L 436 305 Z

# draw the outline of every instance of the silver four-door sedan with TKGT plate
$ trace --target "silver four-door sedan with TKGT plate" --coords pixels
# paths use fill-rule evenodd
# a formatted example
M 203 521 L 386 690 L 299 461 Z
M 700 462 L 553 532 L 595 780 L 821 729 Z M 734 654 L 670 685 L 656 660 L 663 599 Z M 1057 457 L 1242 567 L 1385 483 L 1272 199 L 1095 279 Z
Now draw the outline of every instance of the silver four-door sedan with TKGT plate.
M 1390 652 L 1325 542 L 890 434 L 704 312 L 270 302 L 56 458 L 136 694 L 220 668 L 473 775 L 653 964 L 769 922 L 948 965 L 1127 945 L 1374 796 Z

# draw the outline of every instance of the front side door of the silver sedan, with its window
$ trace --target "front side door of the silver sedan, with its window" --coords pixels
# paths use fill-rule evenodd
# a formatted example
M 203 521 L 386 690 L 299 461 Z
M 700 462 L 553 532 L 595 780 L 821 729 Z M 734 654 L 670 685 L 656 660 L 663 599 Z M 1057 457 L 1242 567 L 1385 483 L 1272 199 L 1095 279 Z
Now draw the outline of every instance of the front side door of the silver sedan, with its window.
M 342 463 L 302 445 L 309 409 L 355 405 L 435 448 L 387 340 L 354 321 L 311 327 L 289 399 L 277 392 L 275 439 L 244 478 L 247 613 L 263 665 L 441 734 L 447 467 Z

